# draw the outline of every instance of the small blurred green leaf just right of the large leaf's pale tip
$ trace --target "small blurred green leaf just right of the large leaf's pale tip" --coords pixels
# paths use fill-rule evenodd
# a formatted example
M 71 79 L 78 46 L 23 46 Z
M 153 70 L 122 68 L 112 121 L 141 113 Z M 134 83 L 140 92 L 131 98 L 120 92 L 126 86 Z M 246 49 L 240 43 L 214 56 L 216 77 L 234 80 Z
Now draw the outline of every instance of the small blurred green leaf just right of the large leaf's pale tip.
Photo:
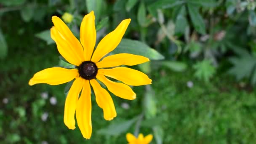
M 181 61 L 162 61 L 162 65 L 176 72 L 182 72 L 187 69 L 187 64 Z

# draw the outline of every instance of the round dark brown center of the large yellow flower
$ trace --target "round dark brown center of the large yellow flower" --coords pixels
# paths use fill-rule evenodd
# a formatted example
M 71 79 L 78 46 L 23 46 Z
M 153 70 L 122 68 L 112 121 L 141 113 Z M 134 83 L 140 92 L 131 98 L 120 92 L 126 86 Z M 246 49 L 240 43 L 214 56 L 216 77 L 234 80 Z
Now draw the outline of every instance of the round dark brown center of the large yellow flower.
M 98 67 L 92 61 L 84 61 L 78 67 L 78 72 L 80 77 L 83 77 L 85 80 L 91 80 L 96 78 Z

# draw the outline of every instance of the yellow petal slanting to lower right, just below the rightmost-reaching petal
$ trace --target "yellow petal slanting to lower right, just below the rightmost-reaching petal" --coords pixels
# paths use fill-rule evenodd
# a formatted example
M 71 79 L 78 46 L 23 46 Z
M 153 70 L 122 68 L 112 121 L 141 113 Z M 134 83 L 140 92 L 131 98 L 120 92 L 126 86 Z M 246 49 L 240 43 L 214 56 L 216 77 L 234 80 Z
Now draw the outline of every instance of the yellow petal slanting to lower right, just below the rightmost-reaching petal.
M 107 86 L 107 89 L 123 99 L 133 100 L 136 99 L 136 93 L 133 92 L 130 86 L 123 83 L 116 83 L 107 79 L 104 75 L 98 74 L 96 76 L 102 83 Z

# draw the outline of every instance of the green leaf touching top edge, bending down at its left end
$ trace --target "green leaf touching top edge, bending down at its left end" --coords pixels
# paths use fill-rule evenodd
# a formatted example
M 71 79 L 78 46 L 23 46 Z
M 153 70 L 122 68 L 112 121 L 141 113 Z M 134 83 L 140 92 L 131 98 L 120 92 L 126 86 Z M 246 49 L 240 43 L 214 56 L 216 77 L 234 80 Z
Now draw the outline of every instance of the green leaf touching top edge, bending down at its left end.
M 157 18 L 157 9 L 172 8 L 185 2 L 186 0 L 157 0 L 155 3 L 150 4 L 147 8 L 149 13 Z

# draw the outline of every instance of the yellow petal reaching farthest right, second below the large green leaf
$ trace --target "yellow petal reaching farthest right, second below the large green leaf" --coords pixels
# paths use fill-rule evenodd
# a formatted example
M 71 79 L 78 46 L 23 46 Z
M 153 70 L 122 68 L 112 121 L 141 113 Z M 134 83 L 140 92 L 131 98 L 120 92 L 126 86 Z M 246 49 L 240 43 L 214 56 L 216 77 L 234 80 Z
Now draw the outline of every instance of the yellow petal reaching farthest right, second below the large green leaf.
M 113 69 L 99 69 L 98 74 L 120 80 L 127 85 L 148 85 L 152 80 L 147 75 L 135 69 L 127 67 L 115 67 Z

